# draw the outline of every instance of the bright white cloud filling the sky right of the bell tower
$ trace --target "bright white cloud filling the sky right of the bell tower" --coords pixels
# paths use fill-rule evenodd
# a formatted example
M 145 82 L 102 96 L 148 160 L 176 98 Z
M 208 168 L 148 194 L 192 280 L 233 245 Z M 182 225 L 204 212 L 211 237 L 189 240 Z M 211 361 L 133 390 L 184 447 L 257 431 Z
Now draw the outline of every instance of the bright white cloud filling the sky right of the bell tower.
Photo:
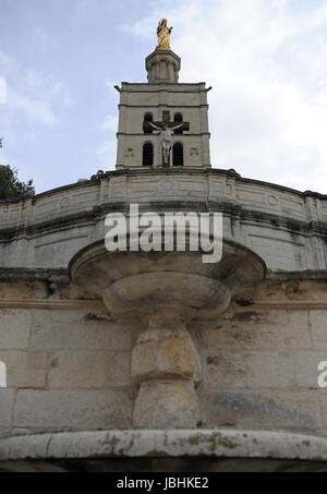
M 155 47 L 164 15 L 180 82 L 214 86 L 214 167 L 327 193 L 327 1 L 305 10 L 291 0 L 181 1 L 130 32 Z

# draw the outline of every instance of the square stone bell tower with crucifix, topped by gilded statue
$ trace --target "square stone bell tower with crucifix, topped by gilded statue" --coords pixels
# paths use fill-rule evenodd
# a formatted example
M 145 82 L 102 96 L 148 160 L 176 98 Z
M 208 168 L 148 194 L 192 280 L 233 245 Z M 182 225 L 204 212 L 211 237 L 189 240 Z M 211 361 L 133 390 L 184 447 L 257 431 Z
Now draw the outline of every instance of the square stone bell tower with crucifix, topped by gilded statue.
M 165 21 L 165 20 L 164 20 Z M 146 60 L 148 83 L 116 86 L 120 93 L 117 169 L 210 168 L 206 84 L 179 83 L 181 59 L 170 32 Z M 166 132 L 165 132 L 166 130 Z

